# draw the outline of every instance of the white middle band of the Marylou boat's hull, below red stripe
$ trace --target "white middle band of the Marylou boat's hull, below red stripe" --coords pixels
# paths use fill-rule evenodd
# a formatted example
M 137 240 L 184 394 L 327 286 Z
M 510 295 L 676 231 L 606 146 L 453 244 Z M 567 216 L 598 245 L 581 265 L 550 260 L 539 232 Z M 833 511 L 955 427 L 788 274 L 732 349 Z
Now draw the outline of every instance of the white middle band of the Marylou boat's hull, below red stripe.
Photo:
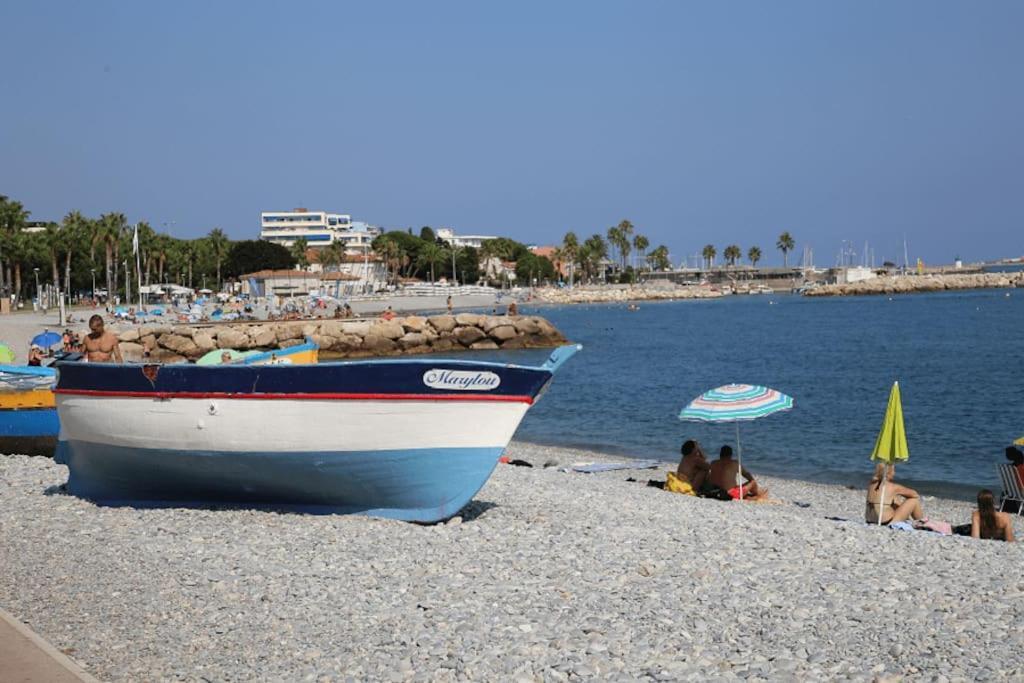
M 397 451 L 505 447 L 529 405 L 487 400 L 57 395 L 60 440 L 139 450 Z

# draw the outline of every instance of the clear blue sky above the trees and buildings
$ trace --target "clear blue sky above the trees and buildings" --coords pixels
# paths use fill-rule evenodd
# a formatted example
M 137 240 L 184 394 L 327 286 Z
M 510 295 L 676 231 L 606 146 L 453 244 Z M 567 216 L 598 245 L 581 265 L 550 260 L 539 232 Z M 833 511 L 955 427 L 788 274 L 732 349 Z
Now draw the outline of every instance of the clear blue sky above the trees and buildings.
M 0 9 L 0 195 L 253 239 L 308 207 L 529 244 L 1024 255 L 1024 3 Z M 792 257 L 791 257 L 792 258 Z

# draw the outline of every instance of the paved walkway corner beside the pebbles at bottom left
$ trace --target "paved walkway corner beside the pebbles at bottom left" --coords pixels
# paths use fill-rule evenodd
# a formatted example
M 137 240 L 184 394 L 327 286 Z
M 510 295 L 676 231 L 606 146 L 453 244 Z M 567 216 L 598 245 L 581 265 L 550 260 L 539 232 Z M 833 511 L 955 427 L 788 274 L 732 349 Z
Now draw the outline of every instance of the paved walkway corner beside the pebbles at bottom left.
M 3 609 L 0 609 L 0 681 L 99 683 Z

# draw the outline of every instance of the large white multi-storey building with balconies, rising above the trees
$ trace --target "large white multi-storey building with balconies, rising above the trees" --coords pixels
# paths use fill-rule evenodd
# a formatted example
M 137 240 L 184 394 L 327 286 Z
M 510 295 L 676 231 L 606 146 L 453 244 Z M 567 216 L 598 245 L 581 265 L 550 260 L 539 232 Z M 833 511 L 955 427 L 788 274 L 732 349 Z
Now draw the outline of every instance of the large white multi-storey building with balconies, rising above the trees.
M 341 243 L 350 254 L 361 254 L 380 230 L 373 225 L 353 222 L 348 214 L 293 209 L 260 213 L 260 240 L 292 247 L 300 238 L 313 249 Z

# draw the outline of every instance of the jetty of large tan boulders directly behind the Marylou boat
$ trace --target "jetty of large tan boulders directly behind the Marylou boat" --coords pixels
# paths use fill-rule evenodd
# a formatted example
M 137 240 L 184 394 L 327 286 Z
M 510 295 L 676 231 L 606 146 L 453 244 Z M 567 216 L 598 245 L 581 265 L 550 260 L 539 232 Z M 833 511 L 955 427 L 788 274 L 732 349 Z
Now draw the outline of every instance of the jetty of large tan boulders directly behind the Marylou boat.
M 83 331 L 84 334 L 84 331 Z M 333 357 L 407 355 L 457 350 L 546 348 L 565 343 L 535 315 L 410 315 L 383 319 L 323 319 L 211 325 L 147 324 L 119 331 L 126 360 L 185 362 L 215 349 L 270 350 L 311 338 Z

